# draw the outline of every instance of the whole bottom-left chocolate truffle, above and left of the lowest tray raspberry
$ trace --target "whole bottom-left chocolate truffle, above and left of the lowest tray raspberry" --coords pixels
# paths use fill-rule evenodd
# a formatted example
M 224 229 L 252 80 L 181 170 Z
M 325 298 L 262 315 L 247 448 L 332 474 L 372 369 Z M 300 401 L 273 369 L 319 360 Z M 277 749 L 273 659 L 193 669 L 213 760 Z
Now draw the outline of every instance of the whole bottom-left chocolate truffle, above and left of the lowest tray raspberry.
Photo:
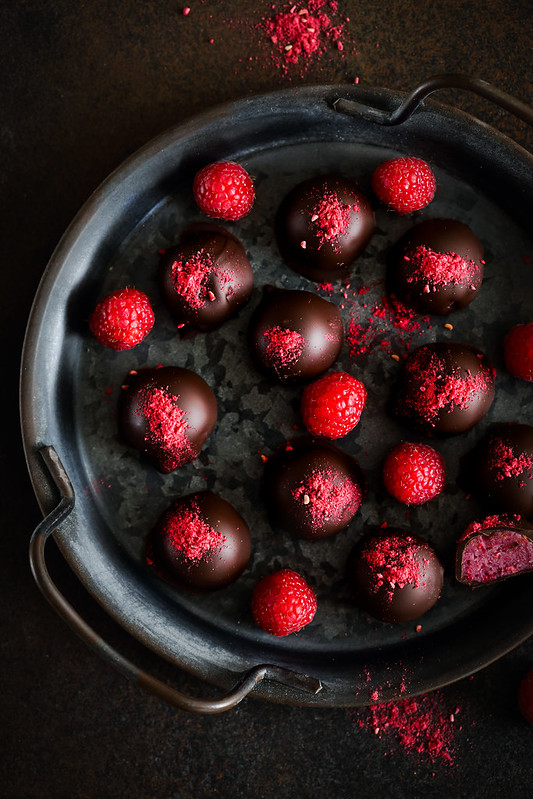
M 233 505 L 199 491 L 175 500 L 161 515 L 147 536 L 146 558 L 177 588 L 212 591 L 242 574 L 251 548 L 248 525 Z

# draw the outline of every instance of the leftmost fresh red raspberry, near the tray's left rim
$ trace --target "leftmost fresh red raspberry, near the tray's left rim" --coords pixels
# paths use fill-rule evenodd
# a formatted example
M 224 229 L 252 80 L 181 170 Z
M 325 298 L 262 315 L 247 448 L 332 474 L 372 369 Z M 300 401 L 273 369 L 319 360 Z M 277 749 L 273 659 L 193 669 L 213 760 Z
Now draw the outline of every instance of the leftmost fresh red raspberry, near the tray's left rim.
M 104 297 L 89 319 L 91 332 L 112 350 L 129 350 L 148 335 L 154 324 L 150 300 L 138 289 L 119 289 Z

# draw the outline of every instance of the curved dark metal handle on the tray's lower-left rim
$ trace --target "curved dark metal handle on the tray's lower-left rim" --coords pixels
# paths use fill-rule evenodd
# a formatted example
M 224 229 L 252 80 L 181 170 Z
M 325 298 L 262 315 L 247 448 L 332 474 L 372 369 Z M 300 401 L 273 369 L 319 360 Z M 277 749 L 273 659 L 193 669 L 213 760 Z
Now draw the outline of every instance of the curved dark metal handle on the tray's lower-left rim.
M 140 688 L 159 699 L 193 713 L 214 714 L 230 710 L 239 704 L 263 680 L 274 680 L 291 688 L 318 693 L 322 685 L 319 680 L 306 674 L 264 664 L 255 666 L 241 676 L 229 693 L 218 699 L 196 699 L 177 691 L 156 677 L 142 671 L 134 663 L 110 646 L 77 613 L 52 580 L 46 565 L 45 545 L 48 538 L 65 521 L 75 504 L 74 490 L 69 477 L 53 447 L 40 449 L 42 458 L 59 491 L 57 506 L 35 528 L 29 546 L 30 565 L 37 586 L 56 613 L 85 641 L 88 646 L 108 661 L 120 673 Z

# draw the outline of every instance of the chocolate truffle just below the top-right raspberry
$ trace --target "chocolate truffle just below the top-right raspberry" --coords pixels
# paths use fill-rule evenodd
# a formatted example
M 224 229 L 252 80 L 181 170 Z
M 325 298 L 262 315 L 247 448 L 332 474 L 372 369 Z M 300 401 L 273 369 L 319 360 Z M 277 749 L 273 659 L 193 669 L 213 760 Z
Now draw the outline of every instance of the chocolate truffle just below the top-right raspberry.
M 402 236 L 388 266 L 394 294 L 421 313 L 442 316 L 476 297 L 483 281 L 483 245 L 463 222 L 428 219 Z

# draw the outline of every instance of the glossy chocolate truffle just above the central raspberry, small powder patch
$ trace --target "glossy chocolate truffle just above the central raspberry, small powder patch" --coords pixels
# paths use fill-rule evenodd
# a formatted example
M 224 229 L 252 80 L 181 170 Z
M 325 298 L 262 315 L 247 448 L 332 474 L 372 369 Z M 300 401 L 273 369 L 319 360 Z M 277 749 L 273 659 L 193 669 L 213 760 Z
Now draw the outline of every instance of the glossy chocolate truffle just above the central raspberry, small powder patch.
M 269 377 L 305 380 L 335 363 L 344 327 L 337 306 L 317 294 L 265 286 L 248 341 L 256 366 Z

